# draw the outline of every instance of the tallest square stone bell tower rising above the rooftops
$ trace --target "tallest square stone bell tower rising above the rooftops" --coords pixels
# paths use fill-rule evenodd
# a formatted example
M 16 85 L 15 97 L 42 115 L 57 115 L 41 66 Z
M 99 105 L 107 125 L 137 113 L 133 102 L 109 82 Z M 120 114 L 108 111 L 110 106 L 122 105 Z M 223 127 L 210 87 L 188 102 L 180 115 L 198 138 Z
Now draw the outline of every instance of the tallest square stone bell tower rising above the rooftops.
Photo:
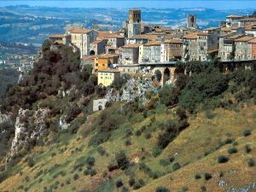
M 128 38 L 141 34 L 141 10 L 130 9 L 128 20 Z

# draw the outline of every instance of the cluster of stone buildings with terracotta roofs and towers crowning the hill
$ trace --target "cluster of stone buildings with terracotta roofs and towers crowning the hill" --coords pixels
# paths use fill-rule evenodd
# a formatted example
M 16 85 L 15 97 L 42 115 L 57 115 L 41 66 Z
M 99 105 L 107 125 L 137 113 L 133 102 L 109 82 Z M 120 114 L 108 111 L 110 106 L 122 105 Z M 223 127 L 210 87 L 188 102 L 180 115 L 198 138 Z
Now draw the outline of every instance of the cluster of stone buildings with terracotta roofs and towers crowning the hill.
M 49 40 L 79 49 L 82 65 L 91 64 L 101 76 L 98 84 L 105 86 L 119 73 L 152 74 L 158 69 L 166 77 L 162 84 L 173 83 L 175 71 L 165 69 L 176 61 L 243 62 L 248 67 L 256 59 L 256 15 L 228 15 L 218 27 L 207 29 L 197 28 L 196 15 L 187 15 L 187 26 L 176 29 L 144 25 L 142 18 L 140 9 L 131 9 L 117 32 L 70 28 Z

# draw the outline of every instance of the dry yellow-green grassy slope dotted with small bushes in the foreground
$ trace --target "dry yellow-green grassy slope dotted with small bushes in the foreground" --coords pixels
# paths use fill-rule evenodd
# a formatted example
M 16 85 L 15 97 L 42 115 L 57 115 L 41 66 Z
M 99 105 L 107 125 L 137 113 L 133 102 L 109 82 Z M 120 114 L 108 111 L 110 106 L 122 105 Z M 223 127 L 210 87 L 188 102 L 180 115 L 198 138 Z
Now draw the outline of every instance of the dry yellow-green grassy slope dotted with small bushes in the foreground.
M 132 124 L 126 123 L 114 130 L 108 142 L 88 147 L 91 137 L 95 135 L 90 124 L 99 115 L 94 113 L 80 126 L 77 134 L 62 132 L 56 138 L 57 143 L 34 148 L 28 155 L 34 165 L 26 158 L 12 167 L 9 171 L 12 176 L 0 183 L 0 191 L 132 191 L 138 183 L 144 186 L 137 191 L 155 191 L 160 186 L 171 191 L 201 191 L 202 186 L 207 191 L 224 191 L 255 182 L 256 168 L 247 165 L 249 159 L 255 160 L 256 156 L 255 106 L 247 105 L 236 112 L 216 109 L 211 115 L 210 112 L 198 113 L 189 118 L 190 125 L 186 130 L 160 155 L 154 156 L 160 133 L 159 123 L 174 118 L 174 110 L 160 105 L 150 111 L 147 118 L 138 114 Z M 141 136 L 137 136 L 137 130 L 150 122 L 153 124 L 150 130 L 147 128 Z M 129 127 L 131 144 L 126 141 Z M 245 130 L 250 130 L 251 135 L 245 137 Z M 148 132 L 151 137 L 148 137 Z M 246 145 L 251 151 L 246 151 Z M 228 153 L 232 146 L 237 148 L 236 154 Z M 133 165 L 125 171 L 116 169 L 109 172 L 108 166 L 121 150 L 125 151 Z M 218 163 L 220 155 L 230 160 Z M 89 162 L 88 157 L 94 157 L 95 163 Z M 173 166 L 177 162 L 181 166 L 179 169 Z M 90 170 L 91 176 L 86 175 L 85 170 Z M 208 181 L 205 179 L 206 172 L 212 176 Z M 201 178 L 195 179 L 196 174 Z M 135 180 L 132 187 L 129 185 L 131 178 Z M 119 179 L 123 186 L 117 188 Z M 140 179 L 143 182 L 139 182 Z M 219 181 L 224 181 L 224 186 L 219 186 Z

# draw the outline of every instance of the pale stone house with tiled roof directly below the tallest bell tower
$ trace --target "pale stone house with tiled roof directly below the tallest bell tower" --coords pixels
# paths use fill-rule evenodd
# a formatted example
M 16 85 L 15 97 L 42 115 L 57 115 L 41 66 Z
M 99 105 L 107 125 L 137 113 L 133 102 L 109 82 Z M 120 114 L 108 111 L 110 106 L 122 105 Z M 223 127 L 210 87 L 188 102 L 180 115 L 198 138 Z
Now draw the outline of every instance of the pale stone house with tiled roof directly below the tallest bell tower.
M 122 56 L 119 60 L 120 65 L 131 65 L 138 63 L 139 46 L 141 44 L 126 44 L 122 47 Z

